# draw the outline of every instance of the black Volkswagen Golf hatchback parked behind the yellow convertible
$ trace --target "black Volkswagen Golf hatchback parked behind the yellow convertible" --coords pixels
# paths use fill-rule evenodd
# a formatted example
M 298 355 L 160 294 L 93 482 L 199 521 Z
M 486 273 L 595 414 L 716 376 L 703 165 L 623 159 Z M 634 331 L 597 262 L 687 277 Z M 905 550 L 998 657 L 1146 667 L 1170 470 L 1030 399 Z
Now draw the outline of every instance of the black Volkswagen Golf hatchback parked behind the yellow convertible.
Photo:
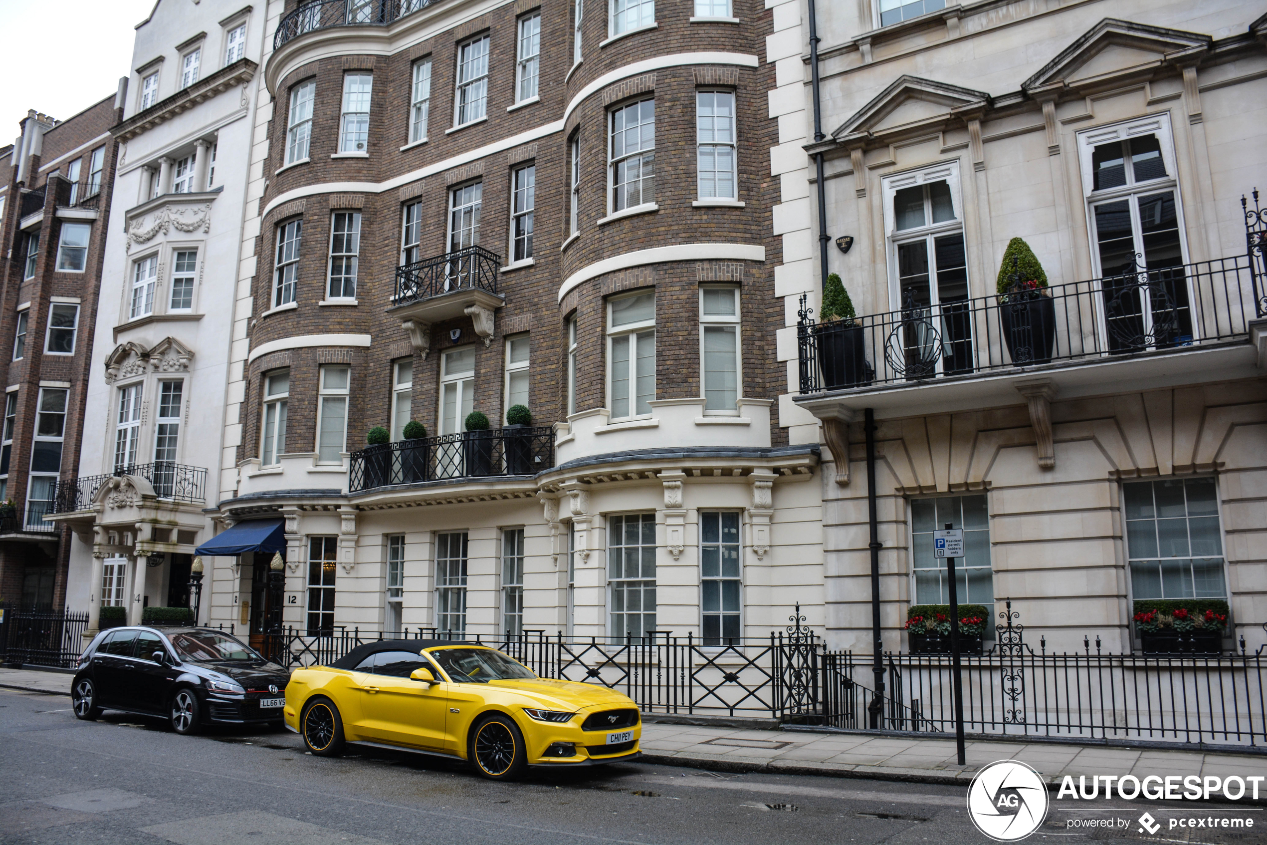
M 75 715 L 103 709 L 165 716 L 177 734 L 203 725 L 283 723 L 290 673 L 210 628 L 101 631 L 80 658 Z

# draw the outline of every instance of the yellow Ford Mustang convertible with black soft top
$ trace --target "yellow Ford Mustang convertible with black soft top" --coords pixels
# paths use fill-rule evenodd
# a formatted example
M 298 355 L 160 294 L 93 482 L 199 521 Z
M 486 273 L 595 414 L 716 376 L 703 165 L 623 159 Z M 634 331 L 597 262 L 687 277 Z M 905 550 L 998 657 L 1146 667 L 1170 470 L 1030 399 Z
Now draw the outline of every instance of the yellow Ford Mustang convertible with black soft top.
M 404 749 L 469 760 L 493 780 L 641 755 L 627 696 L 537 678 L 495 649 L 451 640 L 384 640 L 298 669 L 285 720 L 313 754 L 337 755 L 346 742 Z

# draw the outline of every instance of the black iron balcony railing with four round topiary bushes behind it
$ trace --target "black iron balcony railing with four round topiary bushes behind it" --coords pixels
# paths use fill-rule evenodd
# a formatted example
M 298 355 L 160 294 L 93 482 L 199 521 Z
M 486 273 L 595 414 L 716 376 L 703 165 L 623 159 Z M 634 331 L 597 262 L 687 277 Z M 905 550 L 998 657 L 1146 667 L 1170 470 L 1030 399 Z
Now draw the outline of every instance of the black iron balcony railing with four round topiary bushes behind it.
M 554 466 L 554 427 L 466 431 L 352 452 L 348 493 L 442 479 L 536 475 Z

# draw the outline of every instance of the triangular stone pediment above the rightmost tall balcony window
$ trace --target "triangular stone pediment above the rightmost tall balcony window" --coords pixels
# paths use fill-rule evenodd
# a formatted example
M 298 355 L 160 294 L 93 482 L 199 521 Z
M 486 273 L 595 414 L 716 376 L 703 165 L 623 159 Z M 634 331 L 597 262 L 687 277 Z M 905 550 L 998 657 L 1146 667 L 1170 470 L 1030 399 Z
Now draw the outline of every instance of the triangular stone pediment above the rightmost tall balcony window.
M 1021 87 L 1029 91 L 1060 82 L 1077 85 L 1112 79 L 1156 66 L 1176 53 L 1204 51 L 1211 41 L 1210 35 L 1195 32 L 1105 18 Z

